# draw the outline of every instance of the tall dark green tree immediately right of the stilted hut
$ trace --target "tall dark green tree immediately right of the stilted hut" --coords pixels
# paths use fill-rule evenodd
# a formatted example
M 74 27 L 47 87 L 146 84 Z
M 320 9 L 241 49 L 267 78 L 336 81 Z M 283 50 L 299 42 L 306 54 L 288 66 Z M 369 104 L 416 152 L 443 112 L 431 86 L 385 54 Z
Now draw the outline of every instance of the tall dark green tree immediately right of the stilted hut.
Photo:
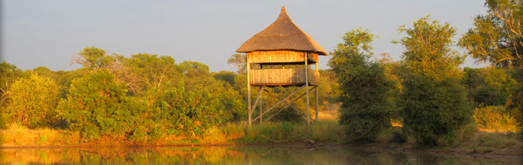
M 378 133 L 390 126 L 394 111 L 392 83 L 379 63 L 370 62 L 374 34 L 368 30 L 345 33 L 332 53 L 329 66 L 338 76 L 341 87 L 340 124 L 346 126 L 350 140 L 371 142 Z

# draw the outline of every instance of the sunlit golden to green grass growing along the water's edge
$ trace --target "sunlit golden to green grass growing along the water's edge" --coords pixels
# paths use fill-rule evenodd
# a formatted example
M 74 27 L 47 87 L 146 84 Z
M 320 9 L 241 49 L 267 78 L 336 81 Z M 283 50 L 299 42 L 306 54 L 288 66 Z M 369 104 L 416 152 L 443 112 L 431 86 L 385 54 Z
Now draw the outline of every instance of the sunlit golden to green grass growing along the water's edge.
M 206 129 L 202 135 L 164 135 L 154 142 L 142 142 L 138 145 L 208 145 L 208 144 L 264 144 L 270 142 L 291 142 L 303 138 L 314 142 L 341 144 L 346 142 L 346 135 L 337 122 L 337 111 L 320 111 L 317 122 L 264 122 L 253 124 L 251 128 L 245 122 L 224 123 Z M 0 130 L 0 146 L 107 146 L 137 145 L 125 142 L 125 139 L 103 137 L 100 140 L 81 143 L 78 132 L 54 129 L 28 129 L 21 124 L 8 124 L 8 129 Z M 458 132 L 451 142 L 442 143 L 442 148 L 467 148 L 474 153 L 489 153 L 500 150 L 523 149 L 523 131 L 518 133 L 491 133 L 478 131 L 476 124 L 469 124 Z M 378 134 L 375 144 L 396 146 L 414 146 L 413 137 L 406 135 L 400 126 L 392 126 Z

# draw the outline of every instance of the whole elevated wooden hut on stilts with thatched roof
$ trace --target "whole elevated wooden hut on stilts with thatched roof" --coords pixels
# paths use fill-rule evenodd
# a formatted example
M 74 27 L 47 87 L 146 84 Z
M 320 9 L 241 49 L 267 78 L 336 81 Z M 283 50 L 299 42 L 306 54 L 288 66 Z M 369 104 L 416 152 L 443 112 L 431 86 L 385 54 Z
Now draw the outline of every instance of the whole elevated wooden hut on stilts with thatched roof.
M 327 55 L 316 41 L 303 32 L 297 25 L 292 23 L 285 7 L 281 8 L 278 19 L 270 24 L 258 34 L 248 39 L 236 52 L 247 53 L 247 92 L 248 92 L 248 125 L 252 126 L 255 120 L 263 122 L 263 115 L 275 109 L 279 104 L 286 102 L 290 105 L 302 96 L 306 96 L 307 102 L 307 124 L 310 124 L 309 110 L 309 91 L 314 89 L 316 94 L 316 118 L 318 120 L 318 56 Z M 252 64 L 257 64 L 257 69 L 251 68 Z M 264 66 L 281 65 L 283 67 L 268 69 Z M 285 65 L 303 65 L 301 68 L 285 68 Z M 315 65 L 315 69 L 309 69 L 309 65 Z M 273 106 L 264 110 L 261 107 L 261 96 L 266 91 L 270 96 L 275 96 L 265 88 L 269 87 L 299 87 L 292 94 L 286 96 L 275 103 Z M 250 88 L 259 87 L 258 96 L 251 104 Z M 311 88 L 312 87 L 312 88 Z M 290 98 L 300 90 L 305 89 L 306 93 L 290 101 Z M 253 111 L 259 103 L 259 116 L 253 119 Z M 292 108 L 296 109 L 294 106 Z M 296 109 L 299 111 L 299 109 Z M 301 111 L 299 111 L 301 112 Z M 269 116 L 266 120 L 270 120 Z

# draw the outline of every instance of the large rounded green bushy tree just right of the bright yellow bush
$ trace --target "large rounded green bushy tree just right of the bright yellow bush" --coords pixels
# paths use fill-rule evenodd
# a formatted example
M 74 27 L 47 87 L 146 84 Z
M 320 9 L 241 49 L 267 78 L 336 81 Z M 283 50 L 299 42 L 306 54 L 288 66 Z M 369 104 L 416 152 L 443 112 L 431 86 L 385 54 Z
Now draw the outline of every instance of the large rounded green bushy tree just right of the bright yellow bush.
M 56 111 L 72 130 L 81 131 L 84 141 L 100 135 L 120 137 L 131 131 L 138 118 L 132 111 L 138 106 L 128 104 L 126 92 L 125 84 L 118 83 L 109 70 L 97 69 L 72 81 L 67 100 L 62 99 Z

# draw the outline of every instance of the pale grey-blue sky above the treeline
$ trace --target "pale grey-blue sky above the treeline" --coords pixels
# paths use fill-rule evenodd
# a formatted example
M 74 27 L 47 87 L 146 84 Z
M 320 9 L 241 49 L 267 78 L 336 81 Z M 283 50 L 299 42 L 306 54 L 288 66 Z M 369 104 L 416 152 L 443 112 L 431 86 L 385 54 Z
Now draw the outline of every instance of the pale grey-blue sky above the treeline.
M 69 1 L 3 0 L 1 3 L 0 60 L 21 69 L 39 66 L 54 71 L 70 65 L 85 47 L 107 54 L 149 53 L 172 56 L 176 63 L 198 61 L 211 72 L 235 71 L 227 59 L 250 37 L 273 23 L 285 8 L 296 25 L 327 52 L 352 29 L 368 29 L 379 38 L 374 54 L 389 53 L 401 60 L 400 25 L 430 15 L 450 23 L 458 39 L 485 14 L 480 0 L 376 0 L 376 1 Z M 464 50 L 456 50 L 465 53 Z M 329 56 L 320 56 L 327 69 Z M 467 58 L 462 67 L 482 67 Z

